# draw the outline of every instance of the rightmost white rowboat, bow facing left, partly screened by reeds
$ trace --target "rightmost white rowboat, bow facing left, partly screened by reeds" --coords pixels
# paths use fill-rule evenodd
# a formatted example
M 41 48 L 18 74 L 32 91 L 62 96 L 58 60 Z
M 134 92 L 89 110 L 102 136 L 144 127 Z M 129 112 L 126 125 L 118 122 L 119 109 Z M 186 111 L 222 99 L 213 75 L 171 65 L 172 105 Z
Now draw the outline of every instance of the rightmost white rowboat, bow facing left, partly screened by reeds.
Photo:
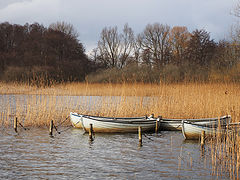
M 197 124 L 190 121 L 182 121 L 182 134 L 185 139 L 200 139 L 202 131 L 206 136 L 214 136 L 225 132 L 225 121 L 219 121 L 214 124 Z

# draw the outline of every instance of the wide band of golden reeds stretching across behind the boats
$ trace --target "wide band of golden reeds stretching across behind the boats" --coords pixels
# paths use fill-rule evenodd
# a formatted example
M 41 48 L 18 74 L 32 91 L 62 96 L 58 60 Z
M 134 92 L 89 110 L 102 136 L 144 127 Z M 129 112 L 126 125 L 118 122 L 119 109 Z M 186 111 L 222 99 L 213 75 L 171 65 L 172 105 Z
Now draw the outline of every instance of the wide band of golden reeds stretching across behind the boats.
M 24 102 L 21 96 L 16 97 L 15 113 L 6 113 L 5 110 L 4 114 L 24 115 L 28 125 L 38 126 L 48 124 L 51 119 L 61 119 L 70 111 L 104 116 L 142 116 L 154 113 L 170 118 L 201 118 L 230 114 L 233 121 L 239 121 L 239 89 L 240 84 L 234 83 L 69 83 L 47 88 L 0 84 L 1 94 L 25 95 Z M 9 102 L 6 103 L 5 106 L 11 109 Z

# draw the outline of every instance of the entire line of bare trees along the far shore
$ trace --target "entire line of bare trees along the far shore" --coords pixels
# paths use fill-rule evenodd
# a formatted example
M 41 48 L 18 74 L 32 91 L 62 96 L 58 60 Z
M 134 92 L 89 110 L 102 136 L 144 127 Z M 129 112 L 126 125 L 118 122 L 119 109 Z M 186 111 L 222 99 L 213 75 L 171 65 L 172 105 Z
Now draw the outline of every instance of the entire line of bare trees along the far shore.
M 154 23 L 134 34 L 125 24 L 102 29 L 86 54 L 73 25 L 0 24 L 0 80 L 55 82 L 189 82 L 240 80 L 240 38 L 214 40 L 210 32 Z

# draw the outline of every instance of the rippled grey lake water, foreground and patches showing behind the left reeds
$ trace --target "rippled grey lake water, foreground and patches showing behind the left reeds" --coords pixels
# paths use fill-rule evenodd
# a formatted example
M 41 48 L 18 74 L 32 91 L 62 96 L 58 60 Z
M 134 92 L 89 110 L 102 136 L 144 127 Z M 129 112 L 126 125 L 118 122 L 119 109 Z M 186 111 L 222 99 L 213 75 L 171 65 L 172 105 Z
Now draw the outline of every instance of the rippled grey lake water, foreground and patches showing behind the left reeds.
M 14 114 L 16 101 L 24 106 L 28 98 L 36 98 L 37 106 L 42 97 L 1 95 L 0 118 L 4 111 Z M 94 107 L 93 98 L 102 100 L 55 98 L 58 104 L 71 101 L 73 106 L 79 98 L 87 98 L 85 108 Z M 96 134 L 91 142 L 81 129 L 66 128 L 50 137 L 48 128 L 25 131 L 19 127 L 15 133 L 13 128 L 1 127 L 0 179 L 229 179 L 216 176 L 209 151 L 202 153 L 199 142 L 184 141 L 181 132 L 145 134 L 140 147 L 138 134 Z

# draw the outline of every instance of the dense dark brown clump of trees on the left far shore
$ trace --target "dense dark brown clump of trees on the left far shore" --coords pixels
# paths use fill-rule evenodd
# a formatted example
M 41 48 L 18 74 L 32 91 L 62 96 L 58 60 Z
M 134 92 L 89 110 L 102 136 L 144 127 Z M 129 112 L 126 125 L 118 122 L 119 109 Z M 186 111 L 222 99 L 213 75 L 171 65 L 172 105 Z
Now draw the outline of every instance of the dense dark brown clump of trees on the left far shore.
M 0 78 L 49 85 L 83 81 L 94 64 L 71 24 L 0 24 Z

